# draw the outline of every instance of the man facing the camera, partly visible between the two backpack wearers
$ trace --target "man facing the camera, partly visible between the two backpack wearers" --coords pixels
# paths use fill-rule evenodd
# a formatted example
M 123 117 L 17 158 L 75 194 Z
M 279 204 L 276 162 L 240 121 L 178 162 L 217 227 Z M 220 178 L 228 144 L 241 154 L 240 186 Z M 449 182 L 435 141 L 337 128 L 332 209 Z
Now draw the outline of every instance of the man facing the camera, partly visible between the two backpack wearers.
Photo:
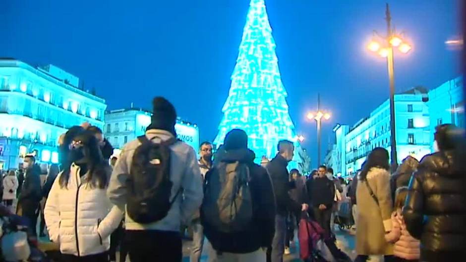
M 202 181 L 204 181 L 206 173 L 212 168 L 212 143 L 207 141 L 202 142 L 199 151 L 199 155 L 201 156 L 198 160 L 199 169 L 201 171 Z M 193 235 L 190 262 L 200 262 L 202 248 L 204 247 L 204 229 L 201 224 L 199 211 L 194 214 L 191 226 Z

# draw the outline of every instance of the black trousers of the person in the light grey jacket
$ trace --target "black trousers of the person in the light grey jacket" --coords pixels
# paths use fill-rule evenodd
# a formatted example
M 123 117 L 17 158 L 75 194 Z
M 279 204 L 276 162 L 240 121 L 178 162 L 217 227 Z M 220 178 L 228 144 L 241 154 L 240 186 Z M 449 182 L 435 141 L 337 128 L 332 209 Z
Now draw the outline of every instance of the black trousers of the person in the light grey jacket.
M 179 232 L 126 230 L 125 240 L 131 262 L 181 262 Z

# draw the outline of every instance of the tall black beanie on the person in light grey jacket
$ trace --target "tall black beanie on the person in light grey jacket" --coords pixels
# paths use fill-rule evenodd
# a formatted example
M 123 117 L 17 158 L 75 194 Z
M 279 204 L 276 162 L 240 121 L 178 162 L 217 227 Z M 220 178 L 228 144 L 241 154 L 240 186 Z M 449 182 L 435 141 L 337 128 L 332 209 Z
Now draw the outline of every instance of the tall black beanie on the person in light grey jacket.
M 165 98 L 155 97 L 152 101 L 152 119 L 149 128 L 166 130 L 176 137 L 175 124 L 175 107 Z

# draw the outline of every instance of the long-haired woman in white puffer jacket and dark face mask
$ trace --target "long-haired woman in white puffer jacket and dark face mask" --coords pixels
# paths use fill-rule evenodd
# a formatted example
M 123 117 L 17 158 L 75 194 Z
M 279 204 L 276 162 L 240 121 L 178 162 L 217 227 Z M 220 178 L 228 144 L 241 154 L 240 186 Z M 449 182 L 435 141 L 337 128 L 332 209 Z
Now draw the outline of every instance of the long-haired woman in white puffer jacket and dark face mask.
M 122 219 L 106 195 L 111 168 L 89 131 L 73 138 L 68 156 L 45 206 L 50 239 L 59 243 L 63 261 L 108 261 L 110 234 Z

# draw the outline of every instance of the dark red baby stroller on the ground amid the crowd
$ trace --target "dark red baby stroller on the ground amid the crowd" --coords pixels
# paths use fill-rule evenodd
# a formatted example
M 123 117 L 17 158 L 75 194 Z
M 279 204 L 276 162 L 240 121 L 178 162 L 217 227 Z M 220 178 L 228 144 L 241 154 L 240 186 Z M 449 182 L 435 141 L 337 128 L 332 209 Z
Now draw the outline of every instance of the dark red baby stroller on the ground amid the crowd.
M 325 236 L 322 227 L 309 216 L 299 222 L 299 256 L 304 262 L 352 262 L 335 244 L 335 238 Z

